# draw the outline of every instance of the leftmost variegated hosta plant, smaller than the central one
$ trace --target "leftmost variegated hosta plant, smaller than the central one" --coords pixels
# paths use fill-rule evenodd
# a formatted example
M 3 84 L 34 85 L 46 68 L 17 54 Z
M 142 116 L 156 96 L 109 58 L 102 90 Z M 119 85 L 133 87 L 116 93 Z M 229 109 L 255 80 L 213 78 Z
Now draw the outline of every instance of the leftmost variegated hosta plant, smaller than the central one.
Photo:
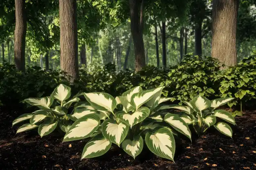
M 25 102 L 32 106 L 37 106 L 40 110 L 20 115 L 12 122 L 12 125 L 25 122 L 18 128 L 17 133 L 38 128 L 38 134 L 41 137 L 53 132 L 57 126 L 67 132 L 74 122 L 68 115 L 68 108 L 72 103 L 80 100 L 78 97 L 68 100 L 70 95 L 71 88 L 60 84 L 49 97 L 25 99 Z

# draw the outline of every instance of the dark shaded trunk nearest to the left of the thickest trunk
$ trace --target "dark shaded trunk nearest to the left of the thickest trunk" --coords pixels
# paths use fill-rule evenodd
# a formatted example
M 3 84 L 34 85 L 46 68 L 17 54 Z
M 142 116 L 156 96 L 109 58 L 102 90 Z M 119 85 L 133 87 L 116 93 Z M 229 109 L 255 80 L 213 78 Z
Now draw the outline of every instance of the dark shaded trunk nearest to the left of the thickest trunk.
M 202 21 L 195 27 L 195 55 L 202 55 Z

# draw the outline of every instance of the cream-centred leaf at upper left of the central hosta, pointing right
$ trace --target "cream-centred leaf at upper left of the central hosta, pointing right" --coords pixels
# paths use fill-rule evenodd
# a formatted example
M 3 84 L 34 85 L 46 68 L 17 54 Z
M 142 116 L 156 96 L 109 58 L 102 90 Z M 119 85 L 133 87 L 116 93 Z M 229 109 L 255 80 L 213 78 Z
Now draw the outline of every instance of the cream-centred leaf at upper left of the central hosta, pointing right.
M 84 93 L 84 96 L 92 107 L 98 110 L 113 112 L 117 106 L 115 98 L 108 93 Z

